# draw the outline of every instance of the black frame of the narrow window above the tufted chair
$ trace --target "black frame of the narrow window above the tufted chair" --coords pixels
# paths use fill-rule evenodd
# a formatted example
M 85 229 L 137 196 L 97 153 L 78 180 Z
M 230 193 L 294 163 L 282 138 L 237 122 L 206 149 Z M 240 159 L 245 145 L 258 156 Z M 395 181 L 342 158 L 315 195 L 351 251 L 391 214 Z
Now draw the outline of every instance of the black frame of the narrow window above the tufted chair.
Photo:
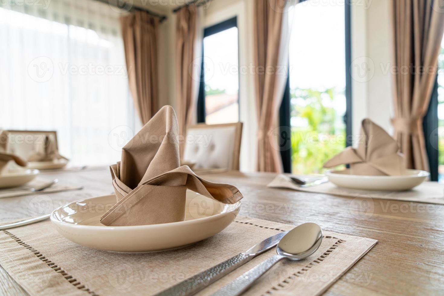
M 228 20 L 224 20 L 221 23 L 212 25 L 210 27 L 207 27 L 203 31 L 203 38 L 220 33 L 222 31 L 231 29 L 231 28 L 238 28 L 238 17 L 234 16 L 233 18 L 230 18 Z M 239 48 L 239 36 L 238 36 L 238 48 Z M 238 59 L 239 59 L 239 53 L 238 53 Z M 197 100 L 197 122 L 204 123 L 205 122 L 205 67 L 204 67 L 204 46 L 202 42 L 202 63 L 201 63 L 201 73 L 200 73 L 200 84 L 199 84 L 199 95 Z M 239 76 L 239 75 L 238 75 Z M 238 77 L 240 79 L 240 77 Z M 240 85 L 240 83 L 239 83 Z M 240 102 L 240 93 L 238 90 L 238 102 Z M 240 108 L 239 108 L 240 111 Z M 238 114 L 240 118 L 240 114 Z

